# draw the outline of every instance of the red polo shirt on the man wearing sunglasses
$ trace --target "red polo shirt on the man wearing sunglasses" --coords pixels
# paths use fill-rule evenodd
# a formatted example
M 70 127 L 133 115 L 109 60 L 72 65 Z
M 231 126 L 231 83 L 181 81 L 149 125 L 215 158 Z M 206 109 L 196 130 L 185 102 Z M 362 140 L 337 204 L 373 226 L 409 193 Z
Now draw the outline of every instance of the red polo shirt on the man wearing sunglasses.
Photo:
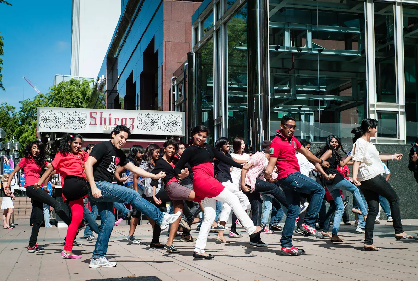
M 270 157 L 277 158 L 278 179 L 283 179 L 287 175 L 300 172 L 298 158 L 296 158 L 296 150 L 302 145 L 294 136 L 289 141 L 280 131 L 270 143 Z

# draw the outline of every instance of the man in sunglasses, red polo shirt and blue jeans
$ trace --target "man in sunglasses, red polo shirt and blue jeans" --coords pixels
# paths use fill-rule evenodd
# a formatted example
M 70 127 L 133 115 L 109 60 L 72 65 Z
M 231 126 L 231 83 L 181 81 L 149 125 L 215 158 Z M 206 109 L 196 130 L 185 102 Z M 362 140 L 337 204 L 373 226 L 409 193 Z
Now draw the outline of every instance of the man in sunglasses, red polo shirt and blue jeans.
M 296 128 L 295 121 L 291 115 L 283 116 L 280 130 L 277 131 L 277 135 L 270 143 L 270 161 L 265 169 L 265 178 L 270 179 L 274 165 L 277 165 L 278 183 L 283 188 L 288 202 L 288 213 L 280 239 L 281 255 L 302 255 L 305 253 L 303 249 L 297 249 L 292 245 L 295 220 L 301 209 L 301 193 L 312 195 L 311 203 L 303 218 L 302 228 L 312 236 L 322 237 L 321 233 L 315 229 L 315 216 L 321 208 L 325 190 L 320 184 L 301 174 L 296 151 L 322 166 L 329 167 L 329 163 L 314 156 L 293 136 Z

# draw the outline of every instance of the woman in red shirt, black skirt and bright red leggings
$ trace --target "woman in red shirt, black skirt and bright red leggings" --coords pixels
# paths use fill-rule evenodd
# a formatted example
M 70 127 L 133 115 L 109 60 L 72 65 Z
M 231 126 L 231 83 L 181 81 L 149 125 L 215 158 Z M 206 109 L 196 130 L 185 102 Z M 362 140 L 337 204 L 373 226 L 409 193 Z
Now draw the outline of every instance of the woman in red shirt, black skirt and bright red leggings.
M 58 153 L 41 178 L 48 179 L 54 169 L 57 174 L 61 174 L 64 202 L 68 202 L 71 208 L 71 223 L 67 229 L 64 250 L 61 252 L 61 257 L 64 258 L 81 258 L 81 255 L 72 252 L 72 248 L 78 226 L 83 220 L 83 198 L 87 196 L 88 188 L 84 163 L 89 153 L 80 150 L 82 142 L 82 136 L 76 133 L 61 138 Z

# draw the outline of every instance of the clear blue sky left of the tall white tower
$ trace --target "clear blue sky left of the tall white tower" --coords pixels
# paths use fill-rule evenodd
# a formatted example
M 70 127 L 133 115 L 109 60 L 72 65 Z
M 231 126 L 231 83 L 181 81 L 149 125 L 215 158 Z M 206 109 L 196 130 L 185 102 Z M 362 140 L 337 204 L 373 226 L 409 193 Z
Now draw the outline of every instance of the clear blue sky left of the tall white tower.
M 0 102 L 18 108 L 19 101 L 53 86 L 55 74 L 70 74 L 71 0 L 8 0 L 0 5 L 0 36 L 4 39 L 3 86 Z

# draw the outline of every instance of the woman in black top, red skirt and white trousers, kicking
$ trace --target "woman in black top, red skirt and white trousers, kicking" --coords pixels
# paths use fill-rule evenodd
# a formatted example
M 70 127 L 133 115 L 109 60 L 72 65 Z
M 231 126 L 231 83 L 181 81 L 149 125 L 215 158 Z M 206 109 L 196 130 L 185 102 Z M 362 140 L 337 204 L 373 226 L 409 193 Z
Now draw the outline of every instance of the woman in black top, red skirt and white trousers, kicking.
M 180 176 L 181 169 L 189 163 L 193 170 L 193 188 L 195 201 L 201 202 L 204 208 L 204 220 L 200 227 L 199 236 L 194 248 L 194 258 L 214 258 L 213 255 L 205 253 L 207 235 L 209 234 L 212 222 L 215 219 L 216 200 L 227 203 L 237 215 L 240 222 L 247 229 L 250 237 L 254 237 L 261 232 L 261 227 L 252 223 L 250 217 L 244 212 L 237 196 L 215 179 L 212 161 L 216 158 L 228 165 L 242 169 L 242 165 L 234 162 L 231 158 L 208 143 L 205 143 L 209 129 L 205 126 L 196 126 L 191 130 L 193 144 L 186 148 L 174 170 Z

